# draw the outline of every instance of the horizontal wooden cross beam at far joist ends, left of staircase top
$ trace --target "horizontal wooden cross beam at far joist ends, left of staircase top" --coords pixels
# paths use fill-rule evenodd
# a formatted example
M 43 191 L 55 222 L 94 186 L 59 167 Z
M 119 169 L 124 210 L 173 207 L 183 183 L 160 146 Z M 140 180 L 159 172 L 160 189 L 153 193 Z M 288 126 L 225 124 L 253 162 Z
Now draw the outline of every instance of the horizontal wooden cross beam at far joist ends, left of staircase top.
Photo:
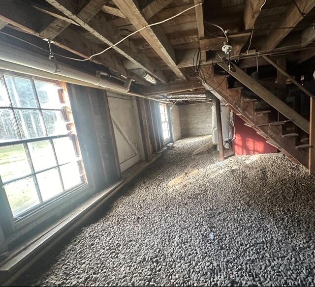
M 196 82 L 186 82 L 183 84 L 144 87 L 142 93 L 144 95 L 164 95 L 167 93 L 176 93 L 197 88 L 203 88 L 203 86 Z

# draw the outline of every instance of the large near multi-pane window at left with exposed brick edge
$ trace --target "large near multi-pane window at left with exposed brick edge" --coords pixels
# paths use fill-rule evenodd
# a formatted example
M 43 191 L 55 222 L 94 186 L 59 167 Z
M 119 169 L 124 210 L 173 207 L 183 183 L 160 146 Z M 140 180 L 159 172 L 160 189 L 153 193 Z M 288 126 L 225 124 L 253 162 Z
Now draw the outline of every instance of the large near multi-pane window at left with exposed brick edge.
M 59 82 L 0 74 L 0 178 L 14 218 L 86 184 Z

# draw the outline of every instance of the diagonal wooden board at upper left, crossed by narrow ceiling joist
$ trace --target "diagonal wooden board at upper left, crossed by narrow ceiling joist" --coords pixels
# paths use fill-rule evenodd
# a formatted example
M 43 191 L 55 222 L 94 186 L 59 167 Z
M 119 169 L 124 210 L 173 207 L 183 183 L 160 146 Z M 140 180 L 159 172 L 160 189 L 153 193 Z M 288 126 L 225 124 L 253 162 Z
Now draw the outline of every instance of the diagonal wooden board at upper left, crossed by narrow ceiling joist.
M 107 0 L 90 0 L 83 9 L 78 13 L 78 17 L 88 23 L 90 20 L 101 10 Z M 41 37 L 53 40 L 64 29 L 66 29 L 70 23 L 62 19 L 56 19 L 40 32 Z

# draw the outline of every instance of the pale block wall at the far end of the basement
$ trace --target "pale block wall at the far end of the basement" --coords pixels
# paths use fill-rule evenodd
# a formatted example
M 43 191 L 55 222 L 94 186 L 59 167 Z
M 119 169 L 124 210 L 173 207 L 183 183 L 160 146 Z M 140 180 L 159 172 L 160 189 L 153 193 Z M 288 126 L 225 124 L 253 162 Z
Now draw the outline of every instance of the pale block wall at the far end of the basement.
M 214 103 L 197 103 L 179 107 L 183 137 L 212 134 L 211 107 Z

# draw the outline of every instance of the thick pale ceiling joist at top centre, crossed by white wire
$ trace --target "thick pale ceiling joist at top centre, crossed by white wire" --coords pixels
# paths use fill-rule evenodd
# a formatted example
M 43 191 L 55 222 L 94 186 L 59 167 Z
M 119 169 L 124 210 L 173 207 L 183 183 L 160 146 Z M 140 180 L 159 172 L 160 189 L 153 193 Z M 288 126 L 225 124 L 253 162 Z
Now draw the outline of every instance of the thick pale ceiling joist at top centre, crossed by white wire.
M 149 25 L 138 9 L 135 0 L 114 0 L 114 2 L 136 29 L 142 29 Z M 185 75 L 176 65 L 174 49 L 169 43 L 163 30 L 158 27 L 147 27 L 146 29 L 141 30 L 140 33 L 168 67 L 180 79 L 186 80 Z

